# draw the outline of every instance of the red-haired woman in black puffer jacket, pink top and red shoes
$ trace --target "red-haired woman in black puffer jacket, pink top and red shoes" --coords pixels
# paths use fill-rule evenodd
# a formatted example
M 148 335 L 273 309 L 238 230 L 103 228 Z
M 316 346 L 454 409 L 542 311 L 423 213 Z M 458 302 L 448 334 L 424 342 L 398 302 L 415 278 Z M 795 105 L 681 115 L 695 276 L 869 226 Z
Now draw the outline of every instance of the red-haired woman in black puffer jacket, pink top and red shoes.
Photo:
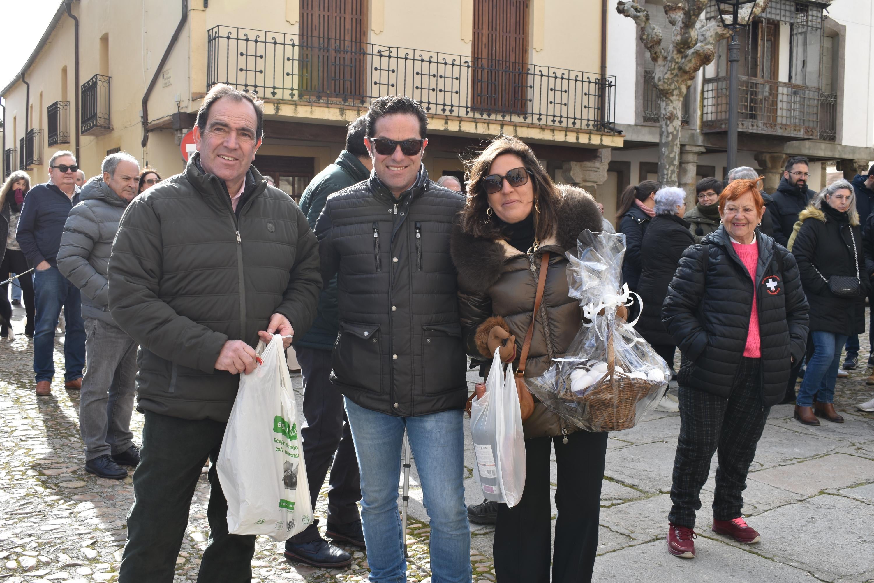
M 742 492 L 770 408 L 783 397 L 808 336 L 798 267 L 783 246 L 757 232 L 764 212 L 757 181 L 726 186 L 722 226 L 683 253 L 662 307 L 662 322 L 683 352 L 668 533 L 675 556 L 695 556 L 695 512 L 717 450 L 713 531 L 760 541 L 741 517 Z

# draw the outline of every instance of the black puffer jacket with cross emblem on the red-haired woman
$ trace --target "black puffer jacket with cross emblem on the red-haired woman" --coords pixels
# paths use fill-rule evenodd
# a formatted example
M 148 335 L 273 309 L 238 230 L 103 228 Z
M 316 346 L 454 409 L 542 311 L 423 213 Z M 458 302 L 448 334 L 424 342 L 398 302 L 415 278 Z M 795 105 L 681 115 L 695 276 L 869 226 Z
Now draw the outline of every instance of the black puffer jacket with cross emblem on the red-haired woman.
M 725 226 L 683 253 L 662 307 L 662 322 L 683 351 L 678 381 L 725 399 L 744 356 L 753 310 L 759 315 L 765 406 L 786 393 L 791 361 L 804 354 L 808 301 L 792 253 L 756 233 L 755 281 L 735 253 Z

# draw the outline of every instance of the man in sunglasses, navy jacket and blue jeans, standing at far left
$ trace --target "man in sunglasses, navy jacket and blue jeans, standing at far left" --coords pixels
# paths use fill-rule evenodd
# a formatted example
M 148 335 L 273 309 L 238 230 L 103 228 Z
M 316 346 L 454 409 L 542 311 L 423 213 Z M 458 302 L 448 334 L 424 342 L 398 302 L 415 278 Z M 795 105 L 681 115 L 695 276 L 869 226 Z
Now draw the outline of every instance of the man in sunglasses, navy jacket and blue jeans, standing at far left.
M 79 288 L 58 270 L 58 249 L 66 217 L 79 202 L 76 173 L 79 165 L 72 152 L 60 150 L 49 161 L 49 181 L 31 188 L 18 219 L 16 240 L 33 272 L 36 324 L 33 331 L 33 372 L 37 395 L 52 392 L 54 335 L 60 310 L 66 317 L 64 338 L 64 388 L 82 388 L 85 366 L 85 323 L 81 316 Z

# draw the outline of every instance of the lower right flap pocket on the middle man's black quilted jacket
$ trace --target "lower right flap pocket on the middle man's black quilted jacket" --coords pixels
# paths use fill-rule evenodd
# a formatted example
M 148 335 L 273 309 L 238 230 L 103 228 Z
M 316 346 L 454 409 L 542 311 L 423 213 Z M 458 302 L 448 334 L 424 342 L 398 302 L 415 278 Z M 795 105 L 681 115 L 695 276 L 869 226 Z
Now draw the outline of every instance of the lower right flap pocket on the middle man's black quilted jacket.
M 458 323 L 422 326 L 422 385 L 426 394 L 453 391 L 467 383 L 467 357 Z

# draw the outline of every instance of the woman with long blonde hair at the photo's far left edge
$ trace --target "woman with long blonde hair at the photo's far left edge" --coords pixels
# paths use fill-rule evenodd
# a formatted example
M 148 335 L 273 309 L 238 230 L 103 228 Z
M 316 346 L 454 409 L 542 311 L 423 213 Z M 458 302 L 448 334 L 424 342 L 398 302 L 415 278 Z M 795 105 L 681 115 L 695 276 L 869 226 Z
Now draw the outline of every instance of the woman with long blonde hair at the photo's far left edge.
M 18 217 L 24 206 L 24 197 L 31 190 L 31 177 L 23 170 L 12 172 L 3 188 L 0 189 L 0 281 L 9 279 L 9 274 L 18 274 L 17 285 L 21 286 L 24 296 L 24 314 L 27 321 L 24 324 L 24 334 L 33 337 L 33 280 L 31 274 L 24 274 L 31 266 L 27 264 L 21 247 L 15 240 Z M 22 275 L 24 274 L 24 275 Z M 13 283 L 12 285 L 16 285 Z M 0 286 L 0 314 L 10 314 L 12 306 L 9 303 L 9 284 Z M 0 337 L 14 337 L 7 326 L 0 327 Z

